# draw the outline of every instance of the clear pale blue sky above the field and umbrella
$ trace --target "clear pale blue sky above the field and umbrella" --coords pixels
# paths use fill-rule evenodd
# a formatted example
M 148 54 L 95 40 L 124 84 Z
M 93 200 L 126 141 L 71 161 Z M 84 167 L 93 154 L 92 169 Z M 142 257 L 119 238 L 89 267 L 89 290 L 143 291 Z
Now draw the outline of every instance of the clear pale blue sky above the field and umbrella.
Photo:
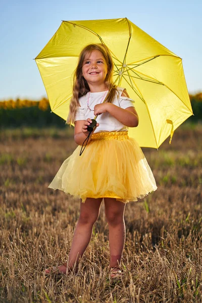
M 1 2 L 0 100 L 46 96 L 33 60 L 62 20 L 130 21 L 182 58 L 189 93 L 202 91 L 202 5 L 199 0 Z

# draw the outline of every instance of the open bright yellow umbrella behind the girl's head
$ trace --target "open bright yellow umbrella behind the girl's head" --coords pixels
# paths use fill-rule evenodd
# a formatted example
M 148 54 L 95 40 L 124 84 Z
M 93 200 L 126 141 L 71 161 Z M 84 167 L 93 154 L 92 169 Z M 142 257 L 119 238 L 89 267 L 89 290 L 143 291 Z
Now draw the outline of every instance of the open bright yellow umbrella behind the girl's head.
M 111 51 L 114 82 L 135 100 L 139 125 L 129 136 L 141 147 L 158 148 L 193 115 L 182 59 L 127 18 L 63 21 L 35 58 L 51 109 L 67 119 L 73 73 L 79 54 L 90 43 L 104 43 Z

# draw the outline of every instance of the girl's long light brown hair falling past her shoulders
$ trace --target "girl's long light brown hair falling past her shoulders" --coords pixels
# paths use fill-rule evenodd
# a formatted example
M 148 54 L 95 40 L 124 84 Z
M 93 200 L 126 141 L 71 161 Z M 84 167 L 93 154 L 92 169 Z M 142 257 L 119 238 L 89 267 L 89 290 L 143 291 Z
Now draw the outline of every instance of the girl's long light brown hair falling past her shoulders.
M 79 56 L 79 61 L 77 68 L 74 72 L 74 82 L 73 82 L 73 94 L 72 98 L 70 101 L 70 112 L 67 118 L 67 124 L 74 124 L 75 122 L 75 115 L 77 108 L 80 107 L 79 104 L 79 98 L 81 96 L 84 96 L 88 91 L 90 91 L 90 88 L 88 86 L 87 81 L 84 79 L 82 76 L 82 66 L 84 59 L 86 58 L 87 55 L 90 55 L 92 51 L 99 51 L 102 53 L 106 64 L 108 66 L 108 73 L 106 76 L 106 85 L 108 89 L 110 90 L 110 93 L 108 95 L 107 102 L 112 103 L 115 94 L 116 94 L 116 85 L 113 84 L 113 71 L 114 71 L 114 63 L 112 60 L 112 57 L 110 55 L 110 50 L 109 48 L 102 43 L 97 43 L 97 44 L 89 44 L 85 46 Z

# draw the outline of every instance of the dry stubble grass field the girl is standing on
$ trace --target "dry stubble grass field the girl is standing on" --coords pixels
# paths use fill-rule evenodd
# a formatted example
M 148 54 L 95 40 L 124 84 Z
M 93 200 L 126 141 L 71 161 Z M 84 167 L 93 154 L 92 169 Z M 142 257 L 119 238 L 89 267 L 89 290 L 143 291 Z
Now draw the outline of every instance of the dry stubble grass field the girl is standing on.
M 79 275 L 43 276 L 67 259 L 79 217 L 78 200 L 47 188 L 76 147 L 70 137 L 1 133 L 0 302 L 202 301 L 202 127 L 181 127 L 171 145 L 144 149 L 158 190 L 126 206 L 124 275 L 116 283 L 108 278 L 103 205 Z

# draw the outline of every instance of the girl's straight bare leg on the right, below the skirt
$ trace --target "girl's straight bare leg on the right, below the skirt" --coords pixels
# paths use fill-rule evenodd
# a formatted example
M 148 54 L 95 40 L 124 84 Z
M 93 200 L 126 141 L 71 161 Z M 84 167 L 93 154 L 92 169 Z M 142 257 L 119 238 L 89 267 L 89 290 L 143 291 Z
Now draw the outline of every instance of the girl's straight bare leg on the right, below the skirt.
M 125 244 L 125 204 L 115 198 L 105 198 L 105 214 L 109 225 L 110 267 L 119 267 Z

